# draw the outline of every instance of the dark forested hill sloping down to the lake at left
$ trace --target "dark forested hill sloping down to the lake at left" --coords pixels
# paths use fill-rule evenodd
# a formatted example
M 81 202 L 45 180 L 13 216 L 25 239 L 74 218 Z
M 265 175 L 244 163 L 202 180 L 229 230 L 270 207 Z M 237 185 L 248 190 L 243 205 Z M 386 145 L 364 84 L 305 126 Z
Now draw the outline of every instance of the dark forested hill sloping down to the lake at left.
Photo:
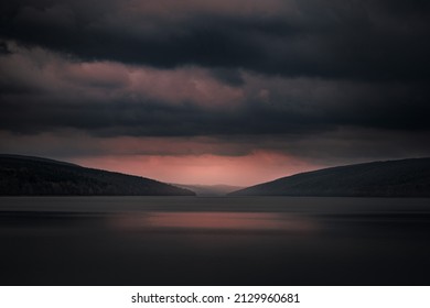
M 153 179 L 41 157 L 0 155 L 0 196 L 194 196 Z

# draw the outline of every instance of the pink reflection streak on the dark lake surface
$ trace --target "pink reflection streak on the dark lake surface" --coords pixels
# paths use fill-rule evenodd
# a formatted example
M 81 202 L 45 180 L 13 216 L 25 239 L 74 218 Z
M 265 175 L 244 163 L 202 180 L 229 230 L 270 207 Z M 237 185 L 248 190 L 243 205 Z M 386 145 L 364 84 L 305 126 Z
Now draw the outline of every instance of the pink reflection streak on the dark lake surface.
M 213 229 L 311 231 L 310 219 L 270 212 L 148 212 L 123 215 L 115 219 L 120 229 Z

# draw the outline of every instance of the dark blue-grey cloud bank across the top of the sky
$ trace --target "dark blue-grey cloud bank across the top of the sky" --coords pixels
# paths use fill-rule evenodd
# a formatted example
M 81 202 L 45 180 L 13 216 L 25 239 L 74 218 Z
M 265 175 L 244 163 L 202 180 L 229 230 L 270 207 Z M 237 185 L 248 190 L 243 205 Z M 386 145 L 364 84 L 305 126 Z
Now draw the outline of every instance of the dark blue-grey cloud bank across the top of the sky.
M 212 10 L 184 1 L 170 14 L 152 2 L 13 1 L 2 4 L 0 34 L 90 61 L 428 80 L 427 1 L 268 1 L 269 13 L 247 12 L 247 1 Z

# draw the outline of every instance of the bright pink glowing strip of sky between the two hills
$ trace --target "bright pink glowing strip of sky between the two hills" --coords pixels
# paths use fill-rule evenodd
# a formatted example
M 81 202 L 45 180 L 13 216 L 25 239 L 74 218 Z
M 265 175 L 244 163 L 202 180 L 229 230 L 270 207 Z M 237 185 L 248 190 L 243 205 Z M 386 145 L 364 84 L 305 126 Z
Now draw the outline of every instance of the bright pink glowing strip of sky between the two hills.
M 75 163 L 176 184 L 249 186 L 318 166 L 281 154 L 256 152 L 246 156 L 128 155 L 75 158 Z

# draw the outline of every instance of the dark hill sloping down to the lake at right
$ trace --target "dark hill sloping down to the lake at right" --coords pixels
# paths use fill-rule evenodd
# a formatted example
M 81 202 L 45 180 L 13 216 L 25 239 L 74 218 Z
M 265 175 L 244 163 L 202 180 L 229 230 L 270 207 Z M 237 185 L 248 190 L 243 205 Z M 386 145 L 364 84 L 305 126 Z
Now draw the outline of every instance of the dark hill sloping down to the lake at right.
M 229 196 L 430 197 L 430 158 L 373 162 L 301 173 Z

